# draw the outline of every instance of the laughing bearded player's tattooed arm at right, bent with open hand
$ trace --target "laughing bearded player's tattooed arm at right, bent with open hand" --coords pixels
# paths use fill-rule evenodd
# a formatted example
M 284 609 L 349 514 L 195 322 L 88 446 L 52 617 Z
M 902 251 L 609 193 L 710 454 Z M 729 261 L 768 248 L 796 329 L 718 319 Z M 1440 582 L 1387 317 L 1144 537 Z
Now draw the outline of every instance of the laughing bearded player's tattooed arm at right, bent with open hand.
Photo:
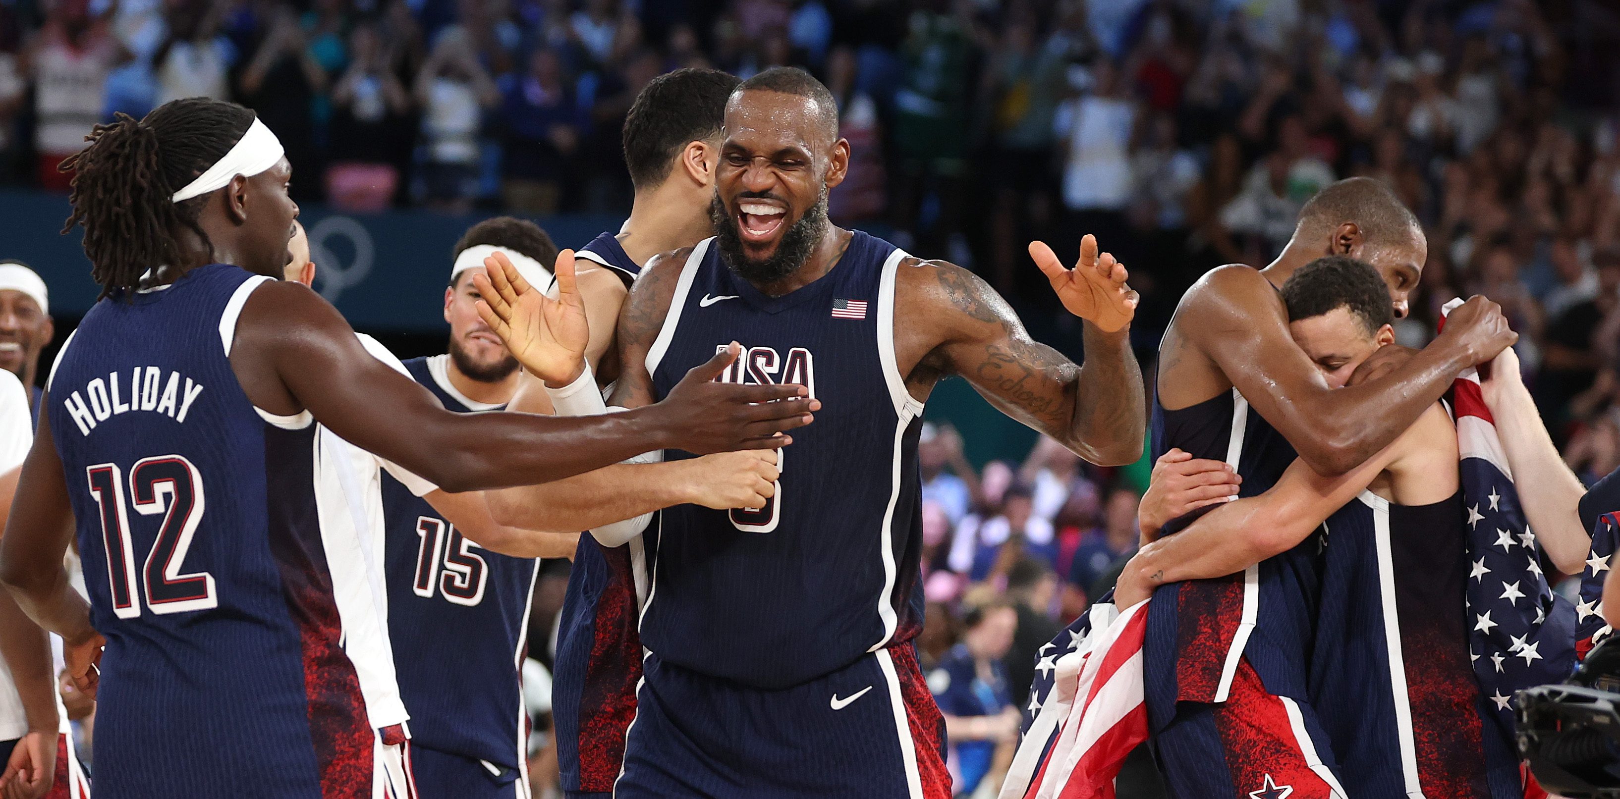
M 1035 342 L 1024 323 L 983 279 L 944 261 L 901 266 L 906 313 L 928 319 L 940 342 L 922 361 L 961 374 L 1003 413 L 1038 429 L 1098 465 L 1142 455 L 1147 399 L 1131 353 L 1136 292 L 1126 271 L 1085 237 L 1081 263 L 1064 269 L 1045 245 L 1030 245 L 1064 306 L 1084 319 L 1085 363 Z M 904 331 L 896 331 L 902 339 Z

